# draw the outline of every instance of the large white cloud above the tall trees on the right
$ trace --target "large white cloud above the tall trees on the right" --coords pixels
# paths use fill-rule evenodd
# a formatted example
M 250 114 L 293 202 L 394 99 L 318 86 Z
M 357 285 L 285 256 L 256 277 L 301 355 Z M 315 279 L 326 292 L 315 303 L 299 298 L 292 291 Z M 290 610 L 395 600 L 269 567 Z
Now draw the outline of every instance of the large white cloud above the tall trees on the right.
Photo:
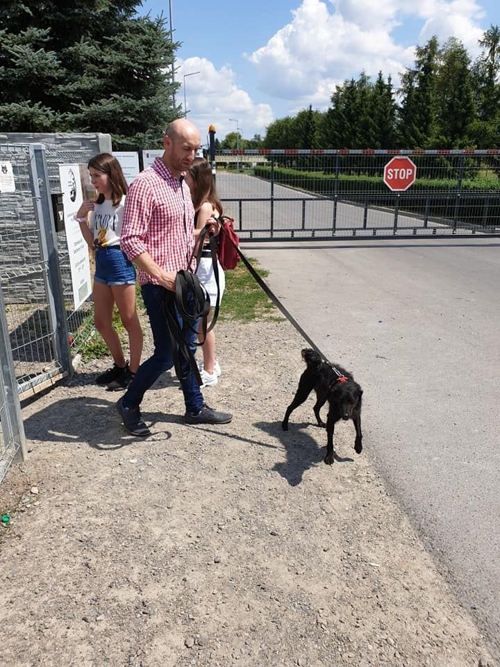
M 440 44 L 455 35 L 474 57 L 482 16 L 474 0 L 303 0 L 292 21 L 249 60 L 265 94 L 288 100 L 290 110 L 309 104 L 324 110 L 335 85 L 362 71 L 372 80 L 381 71 L 399 85 L 399 74 L 415 60 L 415 46 L 433 35 Z M 392 33 L 408 21 L 418 41 L 397 43 Z

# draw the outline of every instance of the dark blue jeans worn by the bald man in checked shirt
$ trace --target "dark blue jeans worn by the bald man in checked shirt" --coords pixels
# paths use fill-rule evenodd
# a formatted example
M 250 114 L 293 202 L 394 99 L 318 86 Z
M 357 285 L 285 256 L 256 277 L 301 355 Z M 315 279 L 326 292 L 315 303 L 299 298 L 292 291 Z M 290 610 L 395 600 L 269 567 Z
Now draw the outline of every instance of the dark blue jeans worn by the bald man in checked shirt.
M 153 356 L 144 361 L 138 368 L 138 372 L 122 399 L 123 405 L 126 408 L 136 408 L 142 403 L 144 393 L 153 386 L 158 377 L 169 370 L 174 365 L 174 355 L 172 353 L 172 345 L 170 343 L 170 336 L 167 330 L 167 320 L 163 312 L 163 297 L 165 295 L 165 288 L 153 283 L 146 283 L 142 286 L 142 299 L 144 299 L 144 306 L 146 306 L 147 314 L 149 316 L 149 324 L 151 324 L 151 332 L 153 334 L 154 352 Z M 189 298 L 189 297 L 188 297 Z M 192 298 L 190 299 L 190 306 L 193 305 Z M 177 320 L 182 327 L 183 320 L 177 313 Z M 194 354 L 196 350 L 197 329 L 198 322 L 192 323 L 192 331 L 188 328 L 185 335 L 185 340 L 188 343 L 191 351 Z M 203 407 L 203 395 L 199 388 L 196 377 L 191 370 L 191 367 L 181 356 L 181 370 L 184 379 L 181 379 L 181 386 L 184 393 L 184 402 L 186 411 L 197 414 Z

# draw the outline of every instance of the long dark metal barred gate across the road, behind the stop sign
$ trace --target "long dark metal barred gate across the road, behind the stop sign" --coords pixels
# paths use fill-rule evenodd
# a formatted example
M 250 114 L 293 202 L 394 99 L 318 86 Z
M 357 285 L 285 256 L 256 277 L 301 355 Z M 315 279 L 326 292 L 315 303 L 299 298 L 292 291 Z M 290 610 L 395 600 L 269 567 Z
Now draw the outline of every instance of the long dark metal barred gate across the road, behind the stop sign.
M 385 179 L 395 156 L 415 165 L 410 186 Z M 213 167 L 242 240 L 500 233 L 499 149 L 225 150 Z

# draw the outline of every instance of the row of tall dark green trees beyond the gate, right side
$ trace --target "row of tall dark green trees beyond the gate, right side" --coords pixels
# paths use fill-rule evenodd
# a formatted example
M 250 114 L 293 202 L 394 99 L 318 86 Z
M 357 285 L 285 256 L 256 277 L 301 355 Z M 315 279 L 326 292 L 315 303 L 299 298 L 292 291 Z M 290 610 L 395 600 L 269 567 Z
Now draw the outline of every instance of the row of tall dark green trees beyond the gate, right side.
M 462 43 L 450 38 L 440 49 L 433 37 L 417 47 L 415 65 L 401 74 L 394 91 L 378 72 L 372 84 L 358 80 L 335 86 L 324 113 L 312 109 L 275 120 L 266 148 L 497 147 L 500 144 L 500 29 L 479 40 L 483 53 L 471 65 Z M 398 104 L 399 103 L 399 104 Z M 314 126 L 314 133 L 310 129 Z

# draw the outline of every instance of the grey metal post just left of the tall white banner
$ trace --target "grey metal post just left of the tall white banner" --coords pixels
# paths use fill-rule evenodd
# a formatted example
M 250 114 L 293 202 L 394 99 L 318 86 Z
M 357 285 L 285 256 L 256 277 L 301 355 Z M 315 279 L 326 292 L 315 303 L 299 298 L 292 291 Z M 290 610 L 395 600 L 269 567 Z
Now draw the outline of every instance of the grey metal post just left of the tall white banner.
M 68 377 L 74 373 L 67 328 L 67 313 L 57 253 L 56 227 L 53 221 L 49 174 L 45 158 L 44 144 L 30 144 L 31 188 L 37 222 L 40 252 L 47 272 L 44 272 L 49 318 L 53 331 L 56 332 L 57 358 Z

